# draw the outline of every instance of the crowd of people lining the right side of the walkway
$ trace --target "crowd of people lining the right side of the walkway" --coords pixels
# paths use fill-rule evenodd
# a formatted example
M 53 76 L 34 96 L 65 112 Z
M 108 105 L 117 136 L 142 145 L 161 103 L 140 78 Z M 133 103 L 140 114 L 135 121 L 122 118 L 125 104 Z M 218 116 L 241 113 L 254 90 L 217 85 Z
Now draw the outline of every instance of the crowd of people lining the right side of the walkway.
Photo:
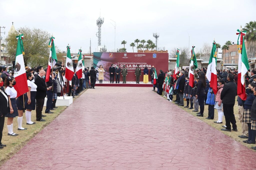
M 151 71 L 152 83 L 154 79 L 154 69 Z M 205 105 L 208 105 L 208 115 L 206 119 L 214 119 L 214 109 L 218 112 L 216 124 L 222 124 L 222 118 L 225 117 L 226 125 L 222 125 L 223 131 L 238 131 L 237 122 L 234 115 L 234 105 L 238 105 L 237 114 L 242 127 L 239 138 L 244 139 L 244 143 L 255 144 L 256 138 L 256 70 L 248 70 L 245 75 L 247 99 L 242 100 L 237 96 L 237 69 L 219 69 L 217 70 L 217 93 L 214 94 L 210 83 L 206 78 L 207 68 L 197 69 L 195 78 L 189 79 L 189 71 L 182 69 L 176 77 L 173 77 L 173 70 L 163 72 L 159 70 L 157 83 L 153 84 L 153 91 L 163 95 L 170 102 L 175 102 L 178 106 L 183 106 L 197 116 L 204 117 Z M 194 87 L 189 86 L 193 81 Z M 164 94 L 163 94 L 164 92 Z M 173 95 L 176 99 L 173 100 Z M 184 103 L 185 102 L 185 103 Z M 189 105 L 190 103 L 190 105 Z M 235 113 L 236 114 L 236 113 Z M 232 128 L 231 128 L 232 125 Z M 252 147 L 256 150 L 256 147 Z

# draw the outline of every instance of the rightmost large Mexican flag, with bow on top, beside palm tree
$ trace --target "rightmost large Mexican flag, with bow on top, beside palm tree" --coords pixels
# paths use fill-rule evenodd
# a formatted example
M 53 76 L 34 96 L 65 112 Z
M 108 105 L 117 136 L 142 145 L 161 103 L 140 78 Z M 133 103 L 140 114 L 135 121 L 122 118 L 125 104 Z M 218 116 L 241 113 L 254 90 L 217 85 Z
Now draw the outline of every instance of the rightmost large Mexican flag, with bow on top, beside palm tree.
M 249 69 L 248 58 L 246 54 L 246 48 L 244 44 L 243 36 L 246 34 L 246 31 L 237 30 L 238 40 L 237 40 L 237 48 L 238 48 L 238 79 L 237 79 L 237 95 L 242 99 L 246 100 L 247 95 L 245 91 L 245 82 L 244 75 Z

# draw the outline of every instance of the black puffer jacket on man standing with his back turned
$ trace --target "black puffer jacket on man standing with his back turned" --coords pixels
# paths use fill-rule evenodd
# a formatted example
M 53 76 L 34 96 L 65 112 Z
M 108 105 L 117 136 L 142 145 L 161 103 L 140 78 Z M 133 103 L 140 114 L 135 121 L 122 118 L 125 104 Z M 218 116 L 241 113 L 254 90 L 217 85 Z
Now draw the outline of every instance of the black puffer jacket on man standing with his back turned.
M 220 93 L 220 99 L 223 104 L 235 104 L 236 95 L 237 84 L 234 81 L 228 81 Z

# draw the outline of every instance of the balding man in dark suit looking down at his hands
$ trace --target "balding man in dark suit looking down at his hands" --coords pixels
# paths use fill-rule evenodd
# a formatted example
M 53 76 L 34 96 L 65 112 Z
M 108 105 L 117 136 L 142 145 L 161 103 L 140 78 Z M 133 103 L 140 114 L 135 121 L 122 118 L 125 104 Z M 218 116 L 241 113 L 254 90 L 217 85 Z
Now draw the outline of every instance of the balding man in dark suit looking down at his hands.
M 51 88 L 47 88 L 45 85 L 45 71 L 40 70 L 38 74 L 38 78 L 35 80 L 35 84 L 37 85 L 36 88 L 36 120 L 37 121 L 45 121 L 42 119 L 42 110 L 44 107 L 46 92 Z

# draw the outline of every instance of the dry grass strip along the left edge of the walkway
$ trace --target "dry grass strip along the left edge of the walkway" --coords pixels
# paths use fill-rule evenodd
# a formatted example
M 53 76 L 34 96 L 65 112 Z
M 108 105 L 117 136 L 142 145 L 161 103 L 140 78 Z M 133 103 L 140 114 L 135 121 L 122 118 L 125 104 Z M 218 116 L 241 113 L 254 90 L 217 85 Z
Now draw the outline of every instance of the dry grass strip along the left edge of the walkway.
M 82 91 L 80 93 L 83 94 L 86 90 Z M 79 96 L 80 96 L 79 95 Z M 73 102 L 79 97 L 75 96 L 73 98 Z M 49 123 L 52 122 L 56 117 L 58 117 L 67 106 L 58 106 L 56 110 L 54 110 L 53 114 L 46 114 L 45 107 L 42 110 L 43 115 L 46 115 L 46 117 L 43 117 L 45 119 L 45 122 L 38 122 L 36 121 L 36 111 L 32 111 L 31 114 L 31 121 L 36 122 L 34 125 L 27 125 L 26 123 L 26 115 L 23 114 L 23 121 L 22 121 L 22 127 L 27 128 L 27 130 L 18 130 L 18 122 L 17 117 L 13 119 L 13 131 L 18 136 L 7 136 L 8 129 L 7 129 L 7 117 L 5 118 L 5 125 L 3 129 L 3 138 L 2 143 L 6 144 L 7 146 L 3 149 L 0 149 L 0 166 L 3 165 L 10 157 L 12 157 L 16 152 L 18 152 L 24 145 L 27 144 L 27 142 L 32 139 L 37 133 L 39 133 L 44 127 L 46 127 Z M 26 111 L 25 111 L 26 112 Z

